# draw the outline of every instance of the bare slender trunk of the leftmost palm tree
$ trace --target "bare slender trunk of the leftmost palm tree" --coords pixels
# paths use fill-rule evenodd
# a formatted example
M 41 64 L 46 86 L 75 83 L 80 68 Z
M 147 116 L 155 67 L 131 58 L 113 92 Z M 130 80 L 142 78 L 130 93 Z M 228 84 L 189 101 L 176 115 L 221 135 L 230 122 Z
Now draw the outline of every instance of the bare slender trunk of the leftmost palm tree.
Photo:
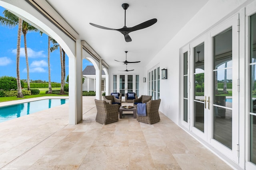
M 24 98 L 24 96 L 22 94 L 21 84 L 20 84 L 20 39 L 21 39 L 21 29 L 22 29 L 22 19 L 19 18 L 17 54 L 16 54 L 16 71 L 17 71 L 17 86 L 18 86 L 18 96 L 17 96 L 17 98 Z

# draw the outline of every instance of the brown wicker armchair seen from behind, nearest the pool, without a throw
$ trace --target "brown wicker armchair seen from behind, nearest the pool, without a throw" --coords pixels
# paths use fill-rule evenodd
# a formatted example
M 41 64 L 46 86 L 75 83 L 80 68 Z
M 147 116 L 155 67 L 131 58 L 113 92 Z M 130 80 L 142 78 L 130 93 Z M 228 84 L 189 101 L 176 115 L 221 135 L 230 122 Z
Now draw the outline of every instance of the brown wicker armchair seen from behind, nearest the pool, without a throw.
M 97 109 L 96 122 L 106 125 L 118 121 L 118 104 L 108 104 L 94 99 Z

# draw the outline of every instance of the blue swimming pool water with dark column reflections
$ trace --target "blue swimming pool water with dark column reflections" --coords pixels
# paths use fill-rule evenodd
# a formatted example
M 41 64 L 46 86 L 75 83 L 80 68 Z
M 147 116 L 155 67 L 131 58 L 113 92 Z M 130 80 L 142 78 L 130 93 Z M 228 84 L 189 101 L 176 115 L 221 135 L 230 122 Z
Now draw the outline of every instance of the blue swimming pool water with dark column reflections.
M 45 99 L 0 107 L 0 122 L 68 103 L 68 99 Z

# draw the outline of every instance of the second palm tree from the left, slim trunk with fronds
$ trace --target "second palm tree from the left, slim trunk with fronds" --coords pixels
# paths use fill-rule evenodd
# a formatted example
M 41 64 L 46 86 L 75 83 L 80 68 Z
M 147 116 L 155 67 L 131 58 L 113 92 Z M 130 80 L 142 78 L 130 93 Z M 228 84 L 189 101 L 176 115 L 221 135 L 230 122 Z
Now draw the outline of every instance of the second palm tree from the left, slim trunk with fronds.
M 37 28 L 33 27 L 26 21 L 22 22 L 22 33 L 24 35 L 24 49 L 25 49 L 25 56 L 26 56 L 26 65 L 27 65 L 27 82 L 28 82 L 28 90 L 30 90 L 30 80 L 29 80 L 29 64 L 28 64 L 28 50 L 27 50 L 27 38 L 26 35 L 28 31 L 38 31 Z

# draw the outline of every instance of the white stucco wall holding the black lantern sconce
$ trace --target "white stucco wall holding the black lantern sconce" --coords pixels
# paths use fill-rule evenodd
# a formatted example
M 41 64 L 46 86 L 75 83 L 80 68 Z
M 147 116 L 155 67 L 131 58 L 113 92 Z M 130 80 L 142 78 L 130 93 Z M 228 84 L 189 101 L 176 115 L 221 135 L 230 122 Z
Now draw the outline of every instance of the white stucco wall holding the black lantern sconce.
M 198 13 L 166 44 L 166 46 L 146 65 L 144 75 L 155 63 L 160 62 L 160 70 L 168 69 L 168 79 L 160 80 L 160 111 L 178 124 L 179 118 L 179 50 L 218 23 L 240 10 L 243 3 L 252 0 L 210 0 Z M 238 9 L 236 9 L 238 8 Z M 147 77 L 147 76 L 146 76 Z M 147 85 L 144 84 L 144 88 Z

